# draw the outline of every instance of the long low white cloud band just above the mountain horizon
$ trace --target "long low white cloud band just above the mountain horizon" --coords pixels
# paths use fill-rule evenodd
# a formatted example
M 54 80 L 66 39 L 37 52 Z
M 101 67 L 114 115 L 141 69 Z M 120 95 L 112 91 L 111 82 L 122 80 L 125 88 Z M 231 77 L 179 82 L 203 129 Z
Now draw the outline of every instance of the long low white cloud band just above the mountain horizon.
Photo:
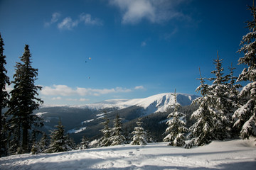
M 137 86 L 134 89 L 144 89 L 144 87 Z M 91 89 L 76 87 L 74 89 L 66 85 L 53 85 L 43 86 L 41 94 L 43 94 L 44 96 L 101 96 L 104 94 L 129 93 L 132 91 L 133 89 L 127 89 L 122 87 L 116 87 L 112 89 Z

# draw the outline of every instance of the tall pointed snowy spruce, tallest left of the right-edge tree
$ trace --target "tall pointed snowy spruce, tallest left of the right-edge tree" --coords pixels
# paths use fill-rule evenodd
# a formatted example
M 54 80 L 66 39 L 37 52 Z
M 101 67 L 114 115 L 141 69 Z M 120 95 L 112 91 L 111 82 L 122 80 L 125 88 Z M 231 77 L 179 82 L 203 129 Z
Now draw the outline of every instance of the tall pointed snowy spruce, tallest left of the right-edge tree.
M 210 100 L 209 105 L 211 108 L 215 108 L 218 112 L 213 115 L 215 118 L 215 128 L 213 133 L 217 140 L 223 140 L 225 138 L 230 138 L 231 123 L 230 115 L 233 114 L 233 101 L 230 98 L 230 89 L 228 86 L 228 77 L 223 76 L 223 59 L 219 58 L 217 51 L 217 59 L 213 60 L 215 64 L 215 69 L 211 73 L 215 74 L 215 77 L 210 78 L 213 81 L 211 86 L 208 86 L 208 99 Z

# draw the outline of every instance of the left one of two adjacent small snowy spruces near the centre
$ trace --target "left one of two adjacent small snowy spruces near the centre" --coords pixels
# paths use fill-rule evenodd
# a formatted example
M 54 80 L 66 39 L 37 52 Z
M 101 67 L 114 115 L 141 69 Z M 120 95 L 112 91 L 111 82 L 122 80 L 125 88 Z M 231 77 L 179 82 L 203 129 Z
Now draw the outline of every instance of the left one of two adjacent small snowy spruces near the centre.
M 100 138 L 100 147 L 108 147 L 111 145 L 110 141 L 110 135 L 111 135 L 111 129 L 109 127 L 110 119 L 107 118 L 107 115 L 105 115 L 105 121 L 102 123 L 104 125 L 104 128 L 100 130 L 103 134 L 103 137 Z

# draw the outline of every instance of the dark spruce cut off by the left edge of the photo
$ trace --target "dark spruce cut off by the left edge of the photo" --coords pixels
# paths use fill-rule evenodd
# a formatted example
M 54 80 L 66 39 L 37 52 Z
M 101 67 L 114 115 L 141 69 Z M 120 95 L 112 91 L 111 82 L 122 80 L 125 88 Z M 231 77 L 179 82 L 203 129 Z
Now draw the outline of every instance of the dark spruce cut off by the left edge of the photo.
M 2 114 L 2 109 L 6 107 L 9 99 L 9 94 L 6 91 L 6 84 L 9 85 L 9 77 L 6 76 L 7 70 L 4 65 L 6 64 L 6 56 L 4 55 L 4 40 L 1 38 L 0 33 L 0 157 L 7 156 L 6 144 L 6 118 Z

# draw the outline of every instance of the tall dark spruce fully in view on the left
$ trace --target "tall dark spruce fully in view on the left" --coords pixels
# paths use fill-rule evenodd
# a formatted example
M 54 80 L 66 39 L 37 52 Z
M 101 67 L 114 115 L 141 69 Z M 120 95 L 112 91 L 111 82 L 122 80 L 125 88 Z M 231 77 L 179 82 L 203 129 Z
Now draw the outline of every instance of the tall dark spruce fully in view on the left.
M 41 90 L 41 86 L 35 85 L 38 69 L 31 66 L 31 53 L 28 45 L 25 45 L 24 50 L 23 56 L 20 57 L 22 63 L 17 62 L 14 81 L 11 82 L 14 84 L 14 89 L 10 92 L 11 99 L 6 115 L 9 115 L 7 124 L 13 140 L 21 141 L 21 146 L 18 148 L 22 153 L 28 153 L 29 130 L 43 125 L 41 118 L 33 114 L 33 111 L 38 109 L 43 101 L 36 97 L 37 91 Z

